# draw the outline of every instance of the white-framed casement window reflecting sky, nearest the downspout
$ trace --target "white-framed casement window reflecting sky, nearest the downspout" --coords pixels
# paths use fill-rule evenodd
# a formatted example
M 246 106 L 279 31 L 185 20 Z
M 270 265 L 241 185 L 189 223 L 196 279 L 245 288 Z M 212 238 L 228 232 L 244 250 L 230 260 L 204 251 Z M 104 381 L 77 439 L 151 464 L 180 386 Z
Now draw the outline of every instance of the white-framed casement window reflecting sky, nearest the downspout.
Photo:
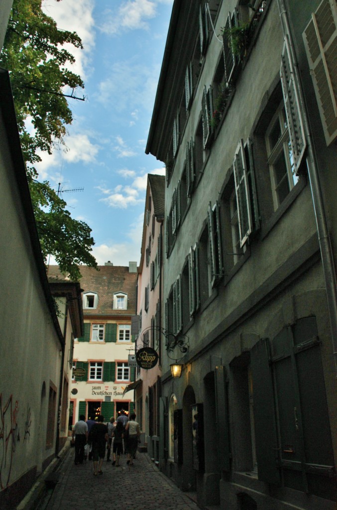
M 286 110 L 279 105 L 266 133 L 266 146 L 274 210 L 298 183 L 290 143 Z

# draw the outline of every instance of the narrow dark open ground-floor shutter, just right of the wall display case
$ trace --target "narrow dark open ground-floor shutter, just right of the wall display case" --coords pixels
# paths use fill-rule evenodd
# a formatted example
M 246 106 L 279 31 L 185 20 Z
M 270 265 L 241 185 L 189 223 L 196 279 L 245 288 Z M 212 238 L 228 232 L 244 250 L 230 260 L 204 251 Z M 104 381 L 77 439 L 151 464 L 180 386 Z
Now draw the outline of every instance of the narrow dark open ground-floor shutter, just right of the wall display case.
M 229 428 L 228 428 L 228 401 L 226 388 L 226 369 L 223 366 L 214 370 L 216 389 L 216 414 L 218 433 L 218 460 L 219 468 L 224 471 L 230 470 L 229 451 Z

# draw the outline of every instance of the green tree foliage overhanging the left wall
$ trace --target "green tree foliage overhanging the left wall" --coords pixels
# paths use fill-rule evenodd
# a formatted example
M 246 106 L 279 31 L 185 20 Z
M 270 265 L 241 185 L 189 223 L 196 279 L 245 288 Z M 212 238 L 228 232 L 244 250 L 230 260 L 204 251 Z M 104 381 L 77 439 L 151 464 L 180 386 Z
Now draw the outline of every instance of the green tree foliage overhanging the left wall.
M 56 0 L 59 2 L 60 0 Z M 14 0 L 0 65 L 10 72 L 22 154 L 45 261 L 51 254 L 61 270 L 80 277 L 77 264 L 91 267 L 93 238 L 89 226 L 71 218 L 66 202 L 50 186 L 37 180 L 34 165 L 41 161 L 38 149 L 51 154 L 64 145 L 66 125 L 72 113 L 66 95 L 84 88 L 81 77 L 67 68 L 74 57 L 63 46 L 82 48 L 75 32 L 60 30 L 41 8 L 42 0 Z M 68 91 L 70 90 L 69 94 Z M 28 129 L 29 120 L 34 127 Z

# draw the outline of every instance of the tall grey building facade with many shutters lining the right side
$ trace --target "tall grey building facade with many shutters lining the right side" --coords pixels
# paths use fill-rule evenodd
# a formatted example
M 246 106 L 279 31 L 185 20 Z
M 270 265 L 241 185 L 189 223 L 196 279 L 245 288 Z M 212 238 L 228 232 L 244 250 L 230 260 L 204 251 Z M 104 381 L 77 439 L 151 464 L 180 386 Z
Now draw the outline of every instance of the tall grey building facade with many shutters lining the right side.
M 336 44 L 335 0 L 173 4 L 160 466 L 201 507 L 335 508 Z

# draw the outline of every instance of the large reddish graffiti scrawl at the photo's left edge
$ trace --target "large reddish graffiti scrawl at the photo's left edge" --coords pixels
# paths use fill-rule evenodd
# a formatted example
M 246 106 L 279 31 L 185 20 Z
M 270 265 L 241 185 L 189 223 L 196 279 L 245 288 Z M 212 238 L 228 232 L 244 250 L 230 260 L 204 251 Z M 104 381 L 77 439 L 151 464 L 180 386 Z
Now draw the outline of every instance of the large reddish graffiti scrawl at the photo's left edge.
M 0 489 L 9 484 L 13 455 L 16 445 L 20 441 L 20 431 L 17 423 L 19 403 L 13 400 L 13 395 L 6 403 L 0 393 Z

